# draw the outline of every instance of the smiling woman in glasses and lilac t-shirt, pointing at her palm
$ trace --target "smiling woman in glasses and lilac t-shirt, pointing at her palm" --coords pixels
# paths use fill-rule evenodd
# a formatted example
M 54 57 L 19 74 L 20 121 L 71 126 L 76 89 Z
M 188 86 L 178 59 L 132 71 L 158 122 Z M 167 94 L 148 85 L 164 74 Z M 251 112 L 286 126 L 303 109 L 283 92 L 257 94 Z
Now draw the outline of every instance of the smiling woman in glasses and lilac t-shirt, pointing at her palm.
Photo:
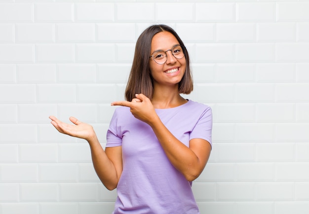
M 136 43 L 126 101 L 116 101 L 105 151 L 93 128 L 51 116 L 58 131 L 86 139 L 106 188 L 117 188 L 114 214 L 199 214 L 191 189 L 211 151 L 212 113 L 184 99 L 193 90 L 189 55 L 166 25 Z

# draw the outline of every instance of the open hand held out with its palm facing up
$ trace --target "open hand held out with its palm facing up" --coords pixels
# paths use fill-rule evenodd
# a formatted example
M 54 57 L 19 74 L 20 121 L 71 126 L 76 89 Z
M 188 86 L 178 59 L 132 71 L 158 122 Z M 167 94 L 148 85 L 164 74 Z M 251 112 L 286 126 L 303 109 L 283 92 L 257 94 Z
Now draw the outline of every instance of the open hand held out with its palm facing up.
M 70 117 L 70 121 L 75 125 L 63 123 L 54 116 L 49 116 L 49 119 L 51 120 L 51 124 L 60 133 L 82 138 L 87 141 L 92 140 L 94 137 L 96 137 L 94 129 L 91 125 L 82 123 L 74 117 Z

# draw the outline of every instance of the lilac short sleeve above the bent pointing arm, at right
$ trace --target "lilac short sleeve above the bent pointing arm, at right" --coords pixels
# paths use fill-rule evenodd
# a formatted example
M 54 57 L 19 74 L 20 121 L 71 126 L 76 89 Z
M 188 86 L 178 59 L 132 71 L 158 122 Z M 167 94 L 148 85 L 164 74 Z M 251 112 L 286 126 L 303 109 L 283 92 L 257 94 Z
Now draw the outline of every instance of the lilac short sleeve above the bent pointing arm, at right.
M 193 138 L 201 138 L 207 140 L 212 146 L 212 110 L 209 106 L 202 112 L 196 125 L 190 133 L 190 140 Z

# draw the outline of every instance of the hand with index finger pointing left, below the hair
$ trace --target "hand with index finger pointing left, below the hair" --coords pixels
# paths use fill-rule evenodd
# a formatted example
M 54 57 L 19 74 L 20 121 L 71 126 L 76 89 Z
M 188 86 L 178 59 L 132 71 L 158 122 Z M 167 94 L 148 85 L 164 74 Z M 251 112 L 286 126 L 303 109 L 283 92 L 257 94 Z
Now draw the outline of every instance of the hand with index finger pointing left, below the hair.
M 158 118 L 153 104 L 151 103 L 150 99 L 142 93 L 135 94 L 135 96 L 136 98 L 132 99 L 131 102 L 116 101 L 112 102 L 112 105 L 130 107 L 130 111 L 135 118 L 150 125 L 154 122 L 155 119 Z

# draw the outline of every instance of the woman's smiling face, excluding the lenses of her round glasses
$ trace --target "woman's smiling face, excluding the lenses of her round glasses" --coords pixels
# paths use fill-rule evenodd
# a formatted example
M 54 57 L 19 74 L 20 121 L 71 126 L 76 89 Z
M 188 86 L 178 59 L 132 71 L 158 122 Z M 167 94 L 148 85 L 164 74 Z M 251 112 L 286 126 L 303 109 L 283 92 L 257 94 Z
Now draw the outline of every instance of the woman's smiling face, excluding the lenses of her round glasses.
M 169 32 L 164 31 L 154 35 L 151 43 L 151 55 L 154 55 L 158 50 L 166 51 L 167 54 L 167 60 L 162 65 L 157 64 L 153 57 L 150 58 L 149 66 L 154 86 L 175 86 L 183 78 L 186 70 L 186 58 L 177 59 L 170 50 L 177 44 L 179 42 Z

